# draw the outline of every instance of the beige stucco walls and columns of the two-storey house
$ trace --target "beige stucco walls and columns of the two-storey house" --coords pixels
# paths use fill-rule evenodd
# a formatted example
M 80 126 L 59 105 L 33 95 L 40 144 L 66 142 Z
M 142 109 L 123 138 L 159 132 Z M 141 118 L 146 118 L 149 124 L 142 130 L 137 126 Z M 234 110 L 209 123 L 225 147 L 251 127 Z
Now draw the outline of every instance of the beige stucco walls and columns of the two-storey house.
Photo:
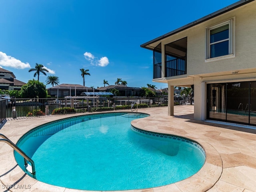
M 162 38 L 150 44 L 162 46 L 162 78 L 154 82 L 168 83 L 169 110 L 173 115 L 172 90 L 174 86 L 194 85 L 194 118 L 205 120 L 206 84 L 213 82 L 232 82 L 256 80 L 256 1 L 220 14 L 200 24 Z M 228 57 L 206 59 L 206 31 L 227 20 L 232 20 L 232 48 Z M 165 44 L 187 37 L 187 73 L 185 75 L 164 77 Z M 232 74 L 236 72 L 237 74 Z

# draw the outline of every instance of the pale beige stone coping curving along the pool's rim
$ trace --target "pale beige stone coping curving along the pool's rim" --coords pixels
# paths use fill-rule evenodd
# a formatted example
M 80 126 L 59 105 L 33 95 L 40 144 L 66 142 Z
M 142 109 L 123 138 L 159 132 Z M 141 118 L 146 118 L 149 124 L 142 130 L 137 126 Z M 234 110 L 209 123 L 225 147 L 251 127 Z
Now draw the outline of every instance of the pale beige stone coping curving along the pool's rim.
M 127 112 L 127 111 L 122 111 L 122 112 Z M 93 113 L 93 114 L 99 114 L 99 113 L 102 113 L 102 112 L 96 112 L 96 113 Z M 81 114 L 78 114 L 78 115 L 75 115 L 75 116 L 79 116 L 79 115 L 81 116 Z M 82 114 L 82 115 L 84 115 L 84 114 Z M 72 116 L 70 116 L 70 117 L 73 117 L 73 116 L 74 116 L 74 114 L 72 114 Z M 58 116 L 58 117 L 60 117 L 60 116 Z M 67 115 L 61 117 L 61 119 L 63 119 L 63 118 L 67 118 Z M 150 116 L 145 117 L 145 118 L 154 118 L 154 115 L 150 115 Z M 142 118 L 142 119 L 145 119 L 145 118 Z M 133 124 L 139 122 L 142 119 L 139 118 L 139 119 L 133 120 L 131 122 L 131 125 L 135 126 Z M 54 120 L 53 119 L 48 120 L 48 122 L 52 122 L 52 121 L 54 121 Z M 34 128 L 35 127 L 36 126 L 34 126 Z M 142 127 L 138 126 L 138 124 L 136 124 L 135 127 L 140 128 L 142 130 L 151 131 L 151 130 L 147 130 L 147 128 L 145 128 L 145 127 L 142 128 Z M 28 132 L 31 129 L 32 128 L 28 128 L 26 130 Z M 166 133 L 161 132 L 161 131 L 160 132 L 158 131 L 156 133 L 166 134 Z M 22 134 L 18 138 L 18 140 L 24 134 Z M 190 140 L 194 140 L 192 138 L 189 138 L 188 136 L 184 137 L 184 136 L 178 135 L 178 134 L 176 134 L 176 136 L 180 136 L 180 137 L 183 137 L 183 138 L 188 138 Z M 16 142 L 18 142 L 18 140 Z M 206 152 L 206 161 L 205 161 L 204 165 L 202 166 L 202 168 L 196 174 L 194 174 L 193 176 L 191 176 L 191 177 L 189 177 L 185 180 L 182 180 L 182 181 L 179 181 L 179 182 L 176 182 L 176 183 L 173 183 L 173 184 L 165 185 L 165 186 L 152 188 L 154 191 L 176 189 L 178 191 L 183 192 L 183 191 L 186 191 L 185 190 L 186 188 L 189 188 L 189 190 L 192 191 L 192 190 L 198 190 L 198 187 L 200 189 L 203 189 L 202 191 L 207 191 L 210 188 L 212 188 L 212 186 L 214 186 L 214 184 L 219 180 L 219 178 L 222 174 L 222 169 L 223 169 L 220 154 L 217 152 L 217 150 L 214 149 L 214 147 L 210 143 L 202 142 L 202 141 L 200 142 L 200 141 L 197 141 L 197 140 L 195 140 L 195 141 L 198 144 L 200 144 Z M 9 155 L 10 155 L 10 151 L 12 153 L 12 156 L 11 156 L 12 163 L 9 163 L 9 166 L 4 168 L 4 171 L 8 172 L 10 169 L 13 169 L 13 170 L 8 172 L 7 174 L 3 174 L 3 175 L 0 176 L 0 181 L 3 184 L 10 184 L 10 183 L 13 183 L 10 180 L 16 180 L 16 181 L 19 181 L 18 183 L 24 183 L 24 182 L 33 183 L 33 185 L 31 186 L 32 191 L 33 190 L 38 191 L 38 187 L 39 187 L 39 188 L 42 188 L 43 191 L 44 190 L 49 190 L 49 191 L 54 190 L 54 191 L 63 191 L 63 192 L 64 191 L 65 192 L 68 192 L 68 191 L 88 192 L 88 190 L 73 190 L 73 189 L 64 188 L 64 187 L 53 186 L 53 185 L 46 184 L 46 183 L 43 183 L 43 182 L 40 182 L 38 180 L 35 180 L 35 179 L 31 178 L 30 176 L 26 175 L 19 166 L 16 166 L 14 168 L 12 167 L 12 166 L 16 165 L 17 163 L 15 161 L 12 149 L 9 150 L 9 152 L 7 151 L 6 153 L 7 154 L 9 153 Z M 214 160 L 212 160 L 212 156 L 214 156 L 214 158 L 215 158 Z M 10 159 L 8 160 L 8 162 L 10 162 Z M 0 171 L 2 171 L 2 170 L 3 169 L 0 169 Z M 25 174 L 25 176 L 24 176 L 24 174 Z M 22 178 L 22 179 L 20 180 L 20 178 Z M 132 192 L 132 191 L 144 191 L 144 190 L 147 190 L 147 189 L 126 190 L 126 191 L 127 192 Z M 10 191 L 13 191 L 13 190 L 10 189 Z M 90 192 L 93 192 L 93 191 L 90 191 Z M 96 192 L 96 191 L 94 191 L 94 192 Z M 109 191 L 109 192 L 111 192 L 111 191 Z M 115 192 L 117 192 L 117 191 L 115 191 Z M 124 192 L 124 191 L 122 191 L 122 192 Z

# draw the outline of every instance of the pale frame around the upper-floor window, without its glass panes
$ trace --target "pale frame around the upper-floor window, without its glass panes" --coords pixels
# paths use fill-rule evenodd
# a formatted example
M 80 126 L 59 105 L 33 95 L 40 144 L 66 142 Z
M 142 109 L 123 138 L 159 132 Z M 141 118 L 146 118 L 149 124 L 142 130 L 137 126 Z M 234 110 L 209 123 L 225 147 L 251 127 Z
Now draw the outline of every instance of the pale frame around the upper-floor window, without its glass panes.
M 235 57 L 235 18 L 231 18 L 229 20 L 226 20 L 224 22 L 221 22 L 217 25 L 210 26 L 206 28 L 206 54 L 205 54 L 205 62 L 211 62 L 215 60 L 222 60 L 222 59 L 227 59 L 227 58 L 234 58 Z M 227 25 L 228 24 L 228 39 L 220 40 L 217 42 L 210 43 L 210 32 L 211 30 L 214 30 L 216 28 L 219 28 L 221 26 Z M 210 57 L 211 56 L 211 45 L 217 44 L 220 42 L 224 41 L 229 41 L 228 42 L 228 54 L 223 55 L 223 56 L 218 56 L 218 57 Z

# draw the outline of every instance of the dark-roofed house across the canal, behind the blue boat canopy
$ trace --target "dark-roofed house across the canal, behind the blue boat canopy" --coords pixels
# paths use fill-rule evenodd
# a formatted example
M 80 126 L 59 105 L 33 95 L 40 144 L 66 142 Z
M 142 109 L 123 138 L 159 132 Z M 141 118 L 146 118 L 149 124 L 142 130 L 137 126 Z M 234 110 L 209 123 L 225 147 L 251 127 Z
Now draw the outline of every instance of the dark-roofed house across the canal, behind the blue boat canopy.
M 119 91 L 119 96 L 140 96 L 142 89 L 138 87 L 127 87 L 123 85 L 110 85 L 106 87 L 100 87 L 98 90 L 100 92 L 110 92 L 111 89 L 117 89 Z

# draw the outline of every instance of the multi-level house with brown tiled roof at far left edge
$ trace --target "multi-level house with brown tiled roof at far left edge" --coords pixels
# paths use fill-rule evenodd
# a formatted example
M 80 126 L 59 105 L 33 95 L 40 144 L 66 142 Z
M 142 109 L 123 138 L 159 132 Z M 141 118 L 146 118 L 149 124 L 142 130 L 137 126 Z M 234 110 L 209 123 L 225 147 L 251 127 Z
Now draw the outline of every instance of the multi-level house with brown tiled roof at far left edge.
M 16 80 L 13 72 L 0 68 L 0 89 L 1 90 L 20 90 L 26 83 Z

